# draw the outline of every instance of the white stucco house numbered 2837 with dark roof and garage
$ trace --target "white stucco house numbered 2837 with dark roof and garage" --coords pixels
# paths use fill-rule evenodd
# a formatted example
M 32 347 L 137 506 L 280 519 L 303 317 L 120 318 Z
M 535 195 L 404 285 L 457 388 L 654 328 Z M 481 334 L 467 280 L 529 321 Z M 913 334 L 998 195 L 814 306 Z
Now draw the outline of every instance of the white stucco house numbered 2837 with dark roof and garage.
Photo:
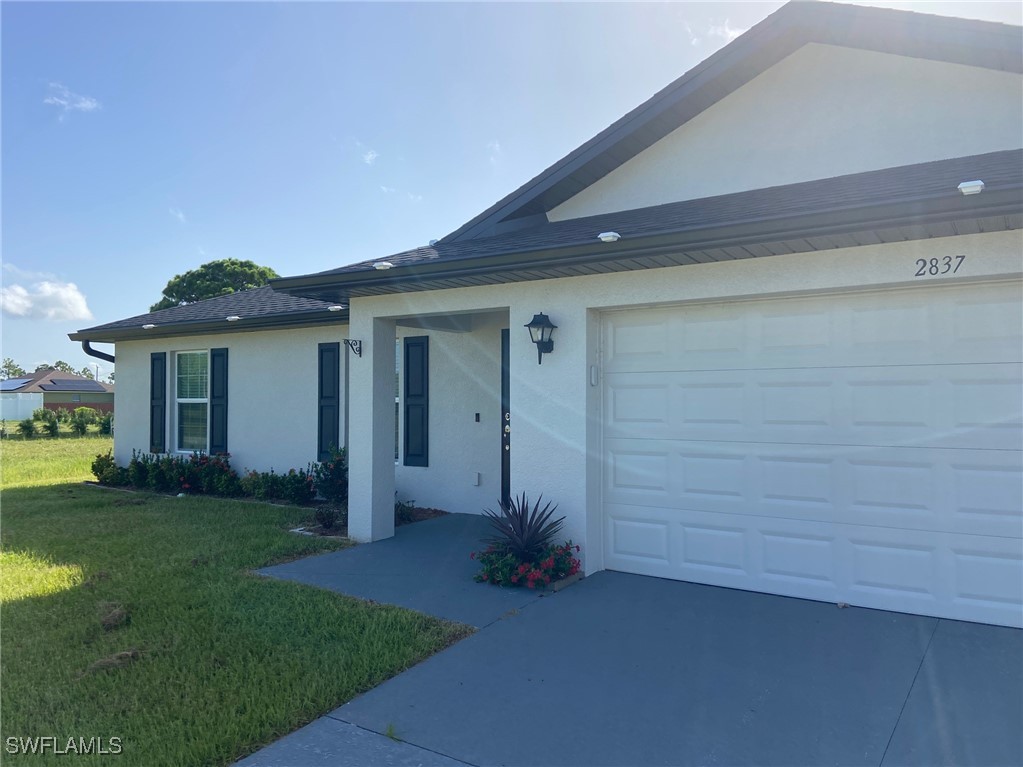
M 543 493 L 587 573 L 1021 626 L 1021 72 L 1019 28 L 790 4 L 430 247 L 72 337 L 122 461 L 218 406 L 252 467 L 343 436 L 360 540 Z

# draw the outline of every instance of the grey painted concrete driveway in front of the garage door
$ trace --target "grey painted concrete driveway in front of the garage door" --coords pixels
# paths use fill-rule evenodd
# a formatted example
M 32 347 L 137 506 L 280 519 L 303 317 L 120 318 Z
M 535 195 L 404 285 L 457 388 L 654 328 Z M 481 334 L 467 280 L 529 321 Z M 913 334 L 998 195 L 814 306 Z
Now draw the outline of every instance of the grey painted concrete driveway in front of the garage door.
M 241 764 L 1019 765 L 1020 722 L 1019 630 L 599 573 Z

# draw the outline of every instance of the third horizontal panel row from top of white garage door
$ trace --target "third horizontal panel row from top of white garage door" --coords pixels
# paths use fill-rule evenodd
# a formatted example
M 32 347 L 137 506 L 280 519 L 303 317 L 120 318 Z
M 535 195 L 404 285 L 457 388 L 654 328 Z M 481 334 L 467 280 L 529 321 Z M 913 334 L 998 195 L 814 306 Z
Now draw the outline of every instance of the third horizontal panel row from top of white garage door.
M 635 507 L 1023 536 L 1011 451 L 609 440 L 605 499 Z

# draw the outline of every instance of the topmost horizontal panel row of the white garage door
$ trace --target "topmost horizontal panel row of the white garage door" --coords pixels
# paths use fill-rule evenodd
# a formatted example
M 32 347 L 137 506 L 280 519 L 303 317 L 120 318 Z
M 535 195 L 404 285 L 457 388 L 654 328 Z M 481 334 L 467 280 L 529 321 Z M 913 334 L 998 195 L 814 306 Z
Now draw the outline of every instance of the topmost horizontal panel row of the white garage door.
M 607 372 L 1023 361 L 1021 290 L 1008 281 L 606 316 Z

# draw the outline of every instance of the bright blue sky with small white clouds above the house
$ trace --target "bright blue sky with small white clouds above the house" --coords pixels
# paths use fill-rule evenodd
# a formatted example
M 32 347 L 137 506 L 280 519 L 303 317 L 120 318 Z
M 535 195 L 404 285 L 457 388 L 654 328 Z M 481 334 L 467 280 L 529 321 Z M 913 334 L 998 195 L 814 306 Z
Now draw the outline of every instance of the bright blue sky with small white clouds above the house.
M 416 245 L 784 3 L 0 3 L 2 356 L 148 311 L 174 275 Z M 1023 3 L 864 2 L 1023 24 Z M 101 349 L 105 347 L 99 347 Z

